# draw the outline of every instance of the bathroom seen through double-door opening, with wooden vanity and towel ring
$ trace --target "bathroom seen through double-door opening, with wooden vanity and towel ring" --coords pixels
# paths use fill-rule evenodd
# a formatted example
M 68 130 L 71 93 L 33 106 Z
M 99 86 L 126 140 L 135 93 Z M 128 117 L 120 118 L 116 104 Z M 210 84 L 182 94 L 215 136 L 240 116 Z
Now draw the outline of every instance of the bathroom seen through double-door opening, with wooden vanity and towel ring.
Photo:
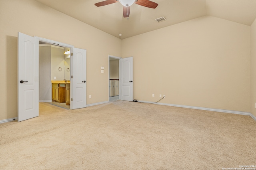
M 39 41 L 39 102 L 70 109 L 70 70 L 70 47 Z

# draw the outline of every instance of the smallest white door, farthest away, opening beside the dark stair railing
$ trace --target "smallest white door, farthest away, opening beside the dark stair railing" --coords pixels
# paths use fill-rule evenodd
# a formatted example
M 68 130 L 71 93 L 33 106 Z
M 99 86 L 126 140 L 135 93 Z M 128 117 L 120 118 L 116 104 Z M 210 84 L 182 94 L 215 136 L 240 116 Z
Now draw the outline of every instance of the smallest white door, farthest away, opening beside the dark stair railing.
M 133 58 L 119 60 L 120 68 L 120 100 L 133 100 Z

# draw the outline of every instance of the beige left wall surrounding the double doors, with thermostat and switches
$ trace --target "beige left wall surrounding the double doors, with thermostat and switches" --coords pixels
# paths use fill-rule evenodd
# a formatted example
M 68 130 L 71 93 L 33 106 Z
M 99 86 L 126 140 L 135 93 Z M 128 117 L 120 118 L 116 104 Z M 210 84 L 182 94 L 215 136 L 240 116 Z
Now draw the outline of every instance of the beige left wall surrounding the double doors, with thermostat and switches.
M 119 38 L 34 0 L 0 0 L 0 4 L 0 120 L 17 117 L 18 32 L 86 49 L 87 104 L 108 101 L 108 73 L 100 70 L 101 66 L 108 70 L 108 55 L 121 56 Z

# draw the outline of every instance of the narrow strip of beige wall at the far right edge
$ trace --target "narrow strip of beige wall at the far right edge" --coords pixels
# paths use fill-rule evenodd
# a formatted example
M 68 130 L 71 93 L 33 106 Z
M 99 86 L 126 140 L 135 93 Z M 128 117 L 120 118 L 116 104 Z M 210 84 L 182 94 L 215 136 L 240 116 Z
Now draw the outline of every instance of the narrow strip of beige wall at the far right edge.
M 256 20 L 251 25 L 251 113 L 256 117 Z

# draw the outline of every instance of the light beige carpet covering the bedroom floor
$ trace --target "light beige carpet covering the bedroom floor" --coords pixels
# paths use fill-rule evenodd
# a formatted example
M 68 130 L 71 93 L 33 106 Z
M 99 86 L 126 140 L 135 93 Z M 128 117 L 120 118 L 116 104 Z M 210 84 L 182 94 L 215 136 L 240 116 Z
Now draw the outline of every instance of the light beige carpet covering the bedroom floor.
M 221 170 L 256 164 L 250 116 L 116 101 L 0 124 L 0 169 Z

